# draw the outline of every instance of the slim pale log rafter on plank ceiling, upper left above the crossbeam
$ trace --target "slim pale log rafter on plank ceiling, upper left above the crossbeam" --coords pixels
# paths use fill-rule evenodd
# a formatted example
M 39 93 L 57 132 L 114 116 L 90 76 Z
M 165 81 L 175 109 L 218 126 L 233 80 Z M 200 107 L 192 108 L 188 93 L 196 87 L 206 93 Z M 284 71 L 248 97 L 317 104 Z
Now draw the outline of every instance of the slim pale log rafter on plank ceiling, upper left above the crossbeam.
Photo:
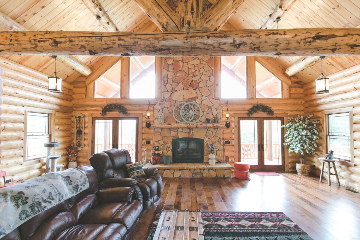
M 115 23 L 111 20 L 109 15 L 105 12 L 103 6 L 99 3 L 98 0 L 82 0 L 85 6 L 90 10 L 94 16 L 100 16 L 100 23 L 102 26 L 109 32 L 118 32 L 118 28 Z

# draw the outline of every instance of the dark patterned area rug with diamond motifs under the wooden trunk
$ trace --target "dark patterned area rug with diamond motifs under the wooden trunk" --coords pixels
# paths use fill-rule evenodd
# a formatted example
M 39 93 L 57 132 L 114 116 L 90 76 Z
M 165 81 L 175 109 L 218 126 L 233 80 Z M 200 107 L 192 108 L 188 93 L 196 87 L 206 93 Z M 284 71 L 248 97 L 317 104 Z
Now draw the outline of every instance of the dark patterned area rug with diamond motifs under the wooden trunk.
M 157 212 L 147 240 L 152 240 Z M 202 212 L 206 240 L 313 240 L 282 212 Z M 170 239 L 169 239 L 170 240 Z

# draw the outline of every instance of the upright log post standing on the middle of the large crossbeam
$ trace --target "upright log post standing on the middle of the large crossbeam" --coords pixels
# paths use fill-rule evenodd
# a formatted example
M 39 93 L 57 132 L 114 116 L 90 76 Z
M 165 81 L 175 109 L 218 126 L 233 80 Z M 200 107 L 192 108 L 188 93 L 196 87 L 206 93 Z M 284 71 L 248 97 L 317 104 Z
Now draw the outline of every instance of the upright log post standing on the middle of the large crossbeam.
M 202 0 L 179 0 L 180 30 L 199 30 Z

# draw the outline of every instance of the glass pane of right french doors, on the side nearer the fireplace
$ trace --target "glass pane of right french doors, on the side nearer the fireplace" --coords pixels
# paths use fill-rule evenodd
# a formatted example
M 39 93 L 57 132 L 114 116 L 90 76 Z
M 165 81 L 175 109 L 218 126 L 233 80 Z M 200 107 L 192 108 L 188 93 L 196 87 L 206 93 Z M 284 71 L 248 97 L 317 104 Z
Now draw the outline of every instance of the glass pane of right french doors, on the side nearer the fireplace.
M 250 165 L 258 164 L 257 120 L 240 120 L 240 158 Z

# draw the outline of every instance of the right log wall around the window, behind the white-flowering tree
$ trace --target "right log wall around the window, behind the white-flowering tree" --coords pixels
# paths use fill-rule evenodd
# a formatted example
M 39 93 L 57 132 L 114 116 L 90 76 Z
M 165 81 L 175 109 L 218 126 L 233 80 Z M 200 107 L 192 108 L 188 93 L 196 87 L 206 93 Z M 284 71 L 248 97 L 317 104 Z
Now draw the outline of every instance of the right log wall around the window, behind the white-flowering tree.
M 354 66 L 355 67 L 355 66 Z M 315 84 L 310 82 L 304 85 L 304 112 L 314 114 L 314 119 L 321 121 L 323 129 L 323 111 L 348 108 L 353 109 L 353 131 L 354 131 L 354 164 L 341 162 L 337 164 L 337 171 L 342 185 L 360 190 L 360 70 L 357 68 L 345 69 L 341 72 L 328 76 L 330 78 L 330 92 L 328 94 L 315 94 Z M 307 157 L 306 162 L 310 164 L 311 172 L 320 176 L 321 161 L 323 157 L 323 133 L 320 133 L 319 148 L 315 156 Z M 325 147 L 325 146 L 324 146 Z M 326 170 L 326 169 L 325 169 Z M 324 176 L 327 178 L 327 176 Z M 336 182 L 335 176 L 331 180 Z

